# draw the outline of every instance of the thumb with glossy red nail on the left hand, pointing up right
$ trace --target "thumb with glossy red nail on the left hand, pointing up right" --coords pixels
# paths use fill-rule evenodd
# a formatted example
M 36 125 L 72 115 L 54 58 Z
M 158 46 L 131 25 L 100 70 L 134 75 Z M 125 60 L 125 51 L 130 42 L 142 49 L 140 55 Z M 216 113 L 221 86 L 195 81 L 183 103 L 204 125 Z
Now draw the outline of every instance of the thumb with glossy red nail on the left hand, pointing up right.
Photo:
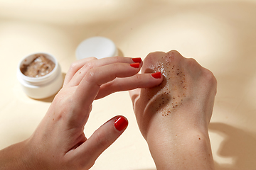
M 83 143 L 83 153 L 90 155 L 90 161 L 95 162 L 102 152 L 110 147 L 122 132 L 127 128 L 128 120 L 119 115 L 107 121 L 92 136 Z

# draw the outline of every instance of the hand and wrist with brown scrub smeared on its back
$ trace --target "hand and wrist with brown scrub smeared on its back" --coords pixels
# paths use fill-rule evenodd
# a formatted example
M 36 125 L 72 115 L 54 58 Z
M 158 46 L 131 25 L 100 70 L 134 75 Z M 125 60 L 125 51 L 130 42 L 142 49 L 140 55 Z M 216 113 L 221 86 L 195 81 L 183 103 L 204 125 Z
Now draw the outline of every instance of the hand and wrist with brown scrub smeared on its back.
M 157 169 L 214 169 L 208 136 L 217 81 L 196 60 L 153 52 L 142 73 L 161 72 L 159 86 L 130 91 L 139 129 Z

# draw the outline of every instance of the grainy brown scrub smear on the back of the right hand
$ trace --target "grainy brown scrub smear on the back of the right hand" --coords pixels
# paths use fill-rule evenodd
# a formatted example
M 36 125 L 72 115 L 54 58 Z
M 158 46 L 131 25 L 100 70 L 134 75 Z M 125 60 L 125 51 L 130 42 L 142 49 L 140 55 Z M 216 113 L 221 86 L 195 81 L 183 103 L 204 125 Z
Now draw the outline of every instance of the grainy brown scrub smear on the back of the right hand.
M 163 53 L 161 53 L 163 54 Z M 174 113 L 183 104 L 186 98 L 186 75 L 183 68 L 177 62 L 174 63 L 174 56 L 171 52 L 159 57 L 157 63 L 151 64 L 144 72 L 161 72 L 164 80 L 159 86 L 151 89 L 142 89 L 150 104 L 145 108 L 155 111 L 163 116 Z

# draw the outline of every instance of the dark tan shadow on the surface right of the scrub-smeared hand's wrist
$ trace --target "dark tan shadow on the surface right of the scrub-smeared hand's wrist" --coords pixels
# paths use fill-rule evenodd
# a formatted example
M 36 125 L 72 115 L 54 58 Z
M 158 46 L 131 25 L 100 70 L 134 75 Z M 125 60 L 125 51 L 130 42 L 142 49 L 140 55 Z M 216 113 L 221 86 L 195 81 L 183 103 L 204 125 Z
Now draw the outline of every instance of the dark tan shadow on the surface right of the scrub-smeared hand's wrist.
M 209 130 L 224 137 L 218 149 L 220 157 L 232 157 L 233 164 L 215 163 L 218 170 L 256 169 L 256 134 L 224 123 L 210 123 Z

